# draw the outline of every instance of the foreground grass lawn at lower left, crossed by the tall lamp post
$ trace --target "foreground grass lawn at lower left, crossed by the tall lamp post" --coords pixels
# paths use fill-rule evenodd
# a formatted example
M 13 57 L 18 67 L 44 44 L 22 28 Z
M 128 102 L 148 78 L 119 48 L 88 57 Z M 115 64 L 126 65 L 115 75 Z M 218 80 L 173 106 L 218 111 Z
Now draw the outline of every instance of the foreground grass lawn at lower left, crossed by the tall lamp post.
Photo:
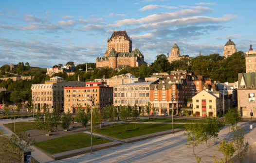
M 111 140 L 92 136 L 93 146 L 109 143 Z M 51 140 L 37 142 L 34 146 L 39 147 L 50 154 L 65 152 L 73 149 L 91 146 L 91 135 L 85 133 L 76 133 Z

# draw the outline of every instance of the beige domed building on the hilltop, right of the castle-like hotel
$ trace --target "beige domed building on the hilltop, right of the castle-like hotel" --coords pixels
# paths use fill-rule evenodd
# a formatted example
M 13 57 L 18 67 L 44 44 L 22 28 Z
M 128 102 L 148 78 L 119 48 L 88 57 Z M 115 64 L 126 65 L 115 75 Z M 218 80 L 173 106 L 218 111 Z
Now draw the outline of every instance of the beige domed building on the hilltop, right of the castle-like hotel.
M 190 62 L 192 60 L 192 57 L 189 57 L 188 55 L 181 55 L 181 50 L 179 49 L 178 45 L 175 43 L 170 51 L 170 56 L 167 53 L 167 60 L 172 63 L 173 61 L 180 60 L 182 58 L 186 58 L 187 65 L 190 65 Z

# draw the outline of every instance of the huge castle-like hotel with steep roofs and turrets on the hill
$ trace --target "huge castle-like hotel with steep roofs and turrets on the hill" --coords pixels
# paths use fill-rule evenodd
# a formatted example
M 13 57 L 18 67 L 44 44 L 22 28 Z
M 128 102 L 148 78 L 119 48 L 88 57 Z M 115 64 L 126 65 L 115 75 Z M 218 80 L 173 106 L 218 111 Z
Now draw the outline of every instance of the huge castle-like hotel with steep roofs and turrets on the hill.
M 139 49 L 132 51 L 132 41 L 126 31 L 114 31 L 107 42 L 104 57 L 97 57 L 96 67 L 122 68 L 124 66 L 141 66 L 144 55 Z

